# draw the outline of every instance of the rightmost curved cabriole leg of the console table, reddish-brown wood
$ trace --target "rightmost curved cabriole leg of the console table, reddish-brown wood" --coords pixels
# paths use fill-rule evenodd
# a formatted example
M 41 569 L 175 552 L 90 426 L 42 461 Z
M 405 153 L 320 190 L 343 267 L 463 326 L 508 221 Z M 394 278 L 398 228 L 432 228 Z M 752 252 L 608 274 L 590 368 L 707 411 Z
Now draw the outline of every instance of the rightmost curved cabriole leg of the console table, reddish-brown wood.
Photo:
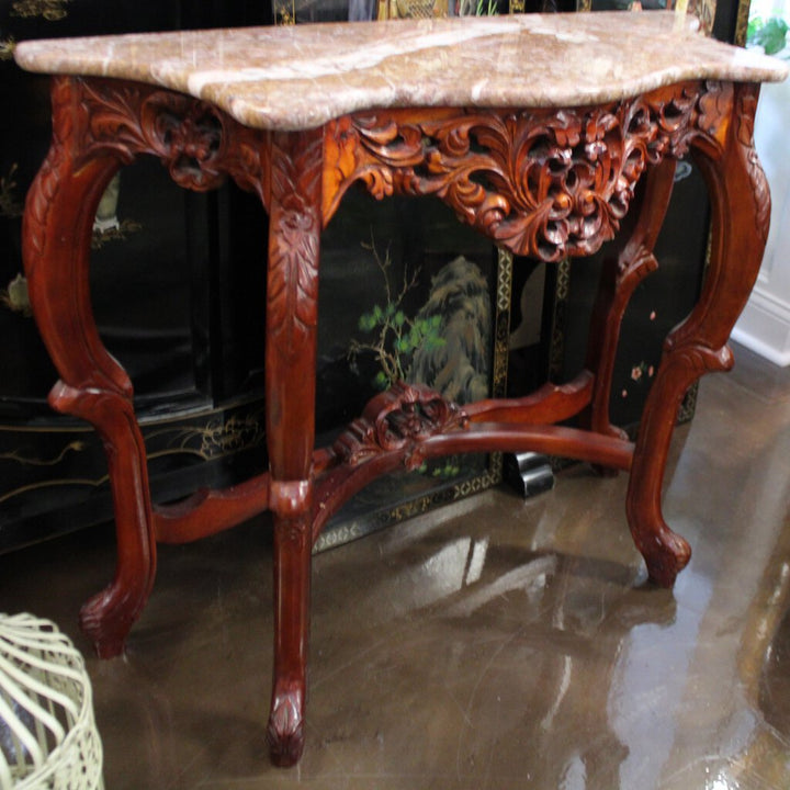
M 757 279 L 768 236 L 770 196 L 753 139 L 757 94 L 757 86 L 735 86 L 719 134 L 697 143 L 713 208 L 711 263 L 699 303 L 667 338 L 634 451 L 629 523 L 651 578 L 666 587 L 691 556 L 689 544 L 667 527 L 661 509 L 677 410 L 700 375 L 732 366 L 726 341 Z

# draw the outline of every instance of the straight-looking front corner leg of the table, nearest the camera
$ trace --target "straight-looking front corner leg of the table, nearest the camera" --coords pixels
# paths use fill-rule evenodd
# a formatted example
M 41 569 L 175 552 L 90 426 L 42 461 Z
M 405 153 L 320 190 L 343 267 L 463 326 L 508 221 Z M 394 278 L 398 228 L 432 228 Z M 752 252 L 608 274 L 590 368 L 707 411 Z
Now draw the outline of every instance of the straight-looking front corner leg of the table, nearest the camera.
M 267 292 L 267 440 L 274 515 L 272 761 L 304 747 L 307 689 L 315 365 L 323 134 L 275 134 L 271 143 Z

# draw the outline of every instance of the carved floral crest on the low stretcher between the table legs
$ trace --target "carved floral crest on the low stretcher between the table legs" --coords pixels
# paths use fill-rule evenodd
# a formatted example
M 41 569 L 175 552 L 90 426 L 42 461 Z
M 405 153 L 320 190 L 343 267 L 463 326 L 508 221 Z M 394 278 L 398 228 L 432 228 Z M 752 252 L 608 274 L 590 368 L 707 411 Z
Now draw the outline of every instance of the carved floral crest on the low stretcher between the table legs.
M 338 437 L 334 451 L 351 465 L 380 453 L 403 451 L 406 467 L 416 469 L 422 462 L 421 440 L 465 428 L 467 422 L 463 409 L 439 393 L 398 382 L 370 400 L 362 417 Z

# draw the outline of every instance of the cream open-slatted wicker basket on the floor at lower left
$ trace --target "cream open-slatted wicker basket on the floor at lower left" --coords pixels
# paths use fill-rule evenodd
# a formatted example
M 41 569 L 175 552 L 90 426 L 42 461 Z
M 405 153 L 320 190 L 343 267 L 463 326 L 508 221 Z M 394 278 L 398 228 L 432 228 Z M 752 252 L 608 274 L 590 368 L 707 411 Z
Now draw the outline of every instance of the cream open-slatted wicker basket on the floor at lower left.
M 48 620 L 0 613 L 0 790 L 101 790 L 84 661 Z

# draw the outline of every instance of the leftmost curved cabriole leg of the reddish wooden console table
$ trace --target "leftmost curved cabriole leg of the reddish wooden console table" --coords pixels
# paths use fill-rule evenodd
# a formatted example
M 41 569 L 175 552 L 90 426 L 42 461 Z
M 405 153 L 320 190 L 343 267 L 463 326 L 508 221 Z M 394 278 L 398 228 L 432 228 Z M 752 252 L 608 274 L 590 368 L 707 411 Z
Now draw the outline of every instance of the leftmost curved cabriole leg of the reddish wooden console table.
M 91 422 L 106 450 L 117 565 L 114 580 L 84 605 L 80 621 L 99 655 L 110 657 L 123 651 L 148 598 L 156 544 L 132 383 L 102 345 L 90 302 L 93 216 L 119 161 L 84 156 L 72 88 L 68 78 L 53 82 L 53 143 L 27 195 L 23 256 L 35 319 L 60 375 L 49 403 Z

